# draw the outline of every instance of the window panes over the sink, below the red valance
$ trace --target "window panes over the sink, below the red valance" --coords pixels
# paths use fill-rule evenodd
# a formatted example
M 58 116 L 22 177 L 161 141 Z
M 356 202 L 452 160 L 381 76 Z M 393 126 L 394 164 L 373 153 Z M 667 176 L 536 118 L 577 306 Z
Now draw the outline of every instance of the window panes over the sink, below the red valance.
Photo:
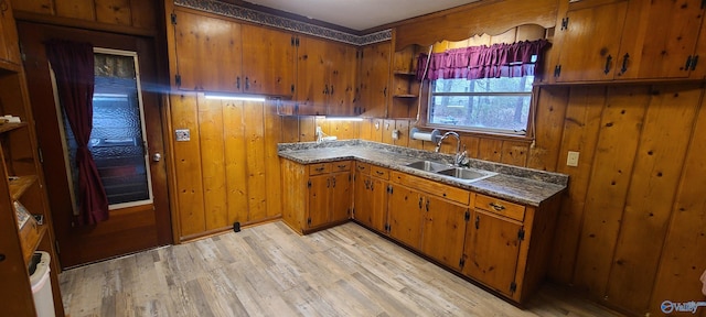
M 431 80 L 429 125 L 526 134 L 534 76 Z

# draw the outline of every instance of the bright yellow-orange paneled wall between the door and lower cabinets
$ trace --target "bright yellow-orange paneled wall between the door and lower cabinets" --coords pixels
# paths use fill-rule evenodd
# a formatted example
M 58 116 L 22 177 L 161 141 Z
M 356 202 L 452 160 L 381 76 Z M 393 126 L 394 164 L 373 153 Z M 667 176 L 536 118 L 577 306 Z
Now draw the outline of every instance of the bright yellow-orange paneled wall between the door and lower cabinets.
M 275 105 L 171 95 L 171 127 L 189 129 L 173 141 L 179 238 L 227 230 L 281 215 L 279 157 L 282 118 Z M 174 133 L 171 131 L 170 133 Z

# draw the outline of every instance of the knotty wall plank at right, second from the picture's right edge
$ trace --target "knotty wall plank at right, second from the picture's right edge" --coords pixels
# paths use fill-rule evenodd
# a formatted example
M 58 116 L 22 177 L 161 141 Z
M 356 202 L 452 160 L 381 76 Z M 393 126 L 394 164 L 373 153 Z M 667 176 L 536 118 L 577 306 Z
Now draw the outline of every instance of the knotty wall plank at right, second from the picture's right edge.
M 700 85 L 652 88 L 620 236 L 608 298 L 646 311 L 682 173 Z

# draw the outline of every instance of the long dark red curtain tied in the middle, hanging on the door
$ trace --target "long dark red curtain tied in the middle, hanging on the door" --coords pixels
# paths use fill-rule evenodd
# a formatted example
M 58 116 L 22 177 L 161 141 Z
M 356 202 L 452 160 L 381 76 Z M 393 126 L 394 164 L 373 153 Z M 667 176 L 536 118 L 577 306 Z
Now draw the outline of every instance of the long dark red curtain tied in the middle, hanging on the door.
M 93 160 L 88 141 L 93 130 L 93 89 L 95 81 L 93 45 L 53 40 L 45 43 L 46 57 L 56 77 L 58 99 L 78 149 L 79 225 L 108 220 L 108 198 Z

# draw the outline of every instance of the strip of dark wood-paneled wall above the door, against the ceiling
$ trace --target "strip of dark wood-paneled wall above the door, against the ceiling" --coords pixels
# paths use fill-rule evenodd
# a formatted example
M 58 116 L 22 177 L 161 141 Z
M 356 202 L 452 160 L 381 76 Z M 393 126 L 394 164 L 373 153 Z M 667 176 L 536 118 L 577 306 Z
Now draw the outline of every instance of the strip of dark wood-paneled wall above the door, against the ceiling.
M 129 26 L 156 33 L 159 0 L 12 0 L 12 9 L 47 17 Z M 86 25 L 89 26 L 89 25 Z M 96 28 L 96 25 L 94 25 Z

